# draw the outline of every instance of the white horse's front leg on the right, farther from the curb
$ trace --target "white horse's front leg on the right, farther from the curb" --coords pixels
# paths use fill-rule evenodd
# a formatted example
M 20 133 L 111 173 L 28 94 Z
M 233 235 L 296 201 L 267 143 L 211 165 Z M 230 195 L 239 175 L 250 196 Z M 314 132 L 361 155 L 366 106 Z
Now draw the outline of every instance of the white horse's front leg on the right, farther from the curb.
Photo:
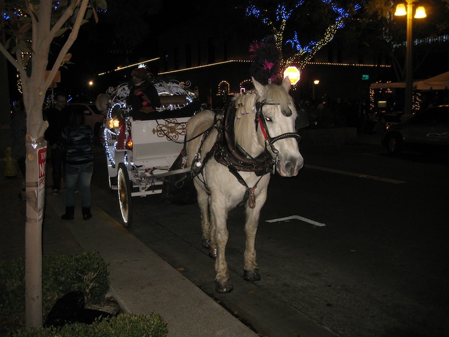
M 254 208 L 250 208 L 248 204 L 246 204 L 246 243 L 244 253 L 243 279 L 249 282 L 260 280 L 259 267 L 257 265 L 256 251 L 254 247 L 257 227 L 259 224 L 260 210 L 262 209 L 266 200 L 266 188 L 260 191 L 255 200 L 256 201 Z

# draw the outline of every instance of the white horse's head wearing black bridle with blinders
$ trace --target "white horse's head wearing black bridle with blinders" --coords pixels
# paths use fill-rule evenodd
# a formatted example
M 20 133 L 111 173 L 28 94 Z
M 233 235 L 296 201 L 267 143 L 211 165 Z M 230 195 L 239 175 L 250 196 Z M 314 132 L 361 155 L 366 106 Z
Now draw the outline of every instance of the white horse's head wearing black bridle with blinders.
M 289 95 L 290 81 L 284 78 L 281 85 L 262 85 L 252 78 L 256 90 L 257 138 L 275 159 L 277 172 L 283 177 L 296 176 L 304 164 L 295 130 L 297 112 Z M 257 120 L 256 120 L 257 123 Z

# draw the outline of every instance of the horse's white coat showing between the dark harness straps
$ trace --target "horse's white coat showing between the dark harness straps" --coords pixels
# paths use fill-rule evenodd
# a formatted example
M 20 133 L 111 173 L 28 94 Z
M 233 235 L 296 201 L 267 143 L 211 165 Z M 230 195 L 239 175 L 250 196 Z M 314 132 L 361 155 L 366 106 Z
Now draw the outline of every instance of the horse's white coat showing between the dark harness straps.
M 255 102 L 266 100 L 262 112 L 266 118 L 268 132 L 271 137 L 280 134 L 295 132 L 294 122 L 296 118 L 296 109 L 293 100 L 288 94 L 290 83 L 288 78 L 282 85 L 270 84 L 263 86 L 253 79 L 256 93 L 239 96 L 235 99 L 236 119 L 235 119 L 235 141 L 249 153 L 253 158 L 259 155 L 265 149 L 263 135 L 255 130 Z M 291 116 L 285 116 L 282 110 L 290 109 Z M 196 135 L 203 133 L 214 122 L 214 112 L 210 110 L 201 111 L 193 116 L 187 125 L 187 137 L 192 139 Z M 198 137 L 187 144 L 188 163 L 191 165 L 201 144 L 201 138 Z M 201 157 L 212 148 L 217 139 L 217 131 L 214 130 L 205 140 Z M 279 151 L 279 162 L 276 170 L 281 176 L 295 176 L 303 166 L 303 158 L 299 153 L 295 138 L 289 137 L 278 140 L 274 147 Z M 271 151 L 271 150 L 269 150 Z M 249 188 L 257 187 L 254 190 L 255 207 L 245 206 L 246 212 L 246 247 L 244 252 L 244 270 L 256 273 L 258 276 L 258 266 L 256 262 L 256 252 L 254 250 L 255 236 L 259 221 L 260 210 L 263 207 L 267 187 L 270 181 L 270 174 L 262 177 L 256 176 L 253 172 L 239 171 L 240 176 L 246 182 Z M 229 282 L 227 263 L 225 259 L 225 247 L 228 240 L 226 221 L 228 212 L 237 206 L 243 199 L 245 187 L 229 172 L 228 168 L 218 163 L 214 158 L 211 159 L 203 169 L 200 178 L 194 179 L 194 185 L 197 189 L 198 204 L 201 210 L 203 240 L 210 240 L 210 250 L 217 250 L 216 269 L 216 287 L 218 291 L 227 292 L 232 290 Z M 260 179 L 260 181 L 259 181 Z M 209 189 L 209 190 L 208 190 Z M 209 208 L 208 208 L 209 206 Z M 257 280 L 257 278 L 254 278 Z M 221 285 L 221 286 L 220 286 Z M 220 290 L 219 288 L 222 287 Z

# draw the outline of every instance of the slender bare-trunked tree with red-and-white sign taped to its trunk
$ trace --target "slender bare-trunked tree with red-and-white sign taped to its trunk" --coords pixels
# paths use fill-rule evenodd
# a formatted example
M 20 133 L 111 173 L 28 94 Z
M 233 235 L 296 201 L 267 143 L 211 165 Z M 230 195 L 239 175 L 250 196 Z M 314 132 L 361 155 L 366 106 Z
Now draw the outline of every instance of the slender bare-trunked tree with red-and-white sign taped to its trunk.
M 25 318 L 27 328 L 42 327 L 42 219 L 45 198 L 46 142 L 48 123 L 42 119 L 45 93 L 58 69 L 68 61 L 69 48 L 80 26 L 106 0 L 2 0 L 0 51 L 17 69 L 26 109 L 26 224 L 25 224 Z M 53 64 L 48 55 L 58 38 L 59 53 Z M 46 76 L 46 70 L 49 73 Z M 4 76 L 6 77 L 6 76 Z

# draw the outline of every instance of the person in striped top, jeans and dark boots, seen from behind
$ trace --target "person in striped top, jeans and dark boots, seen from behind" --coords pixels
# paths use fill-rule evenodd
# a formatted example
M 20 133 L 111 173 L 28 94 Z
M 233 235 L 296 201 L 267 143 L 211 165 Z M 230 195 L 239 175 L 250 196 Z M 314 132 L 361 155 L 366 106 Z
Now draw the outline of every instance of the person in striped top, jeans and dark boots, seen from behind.
M 75 213 L 75 189 L 79 182 L 83 220 L 92 218 L 90 213 L 90 181 L 93 173 L 94 135 L 89 125 L 84 124 L 84 109 L 74 108 L 70 112 L 70 125 L 62 133 L 57 147 L 65 152 L 65 214 L 63 220 L 73 220 Z

